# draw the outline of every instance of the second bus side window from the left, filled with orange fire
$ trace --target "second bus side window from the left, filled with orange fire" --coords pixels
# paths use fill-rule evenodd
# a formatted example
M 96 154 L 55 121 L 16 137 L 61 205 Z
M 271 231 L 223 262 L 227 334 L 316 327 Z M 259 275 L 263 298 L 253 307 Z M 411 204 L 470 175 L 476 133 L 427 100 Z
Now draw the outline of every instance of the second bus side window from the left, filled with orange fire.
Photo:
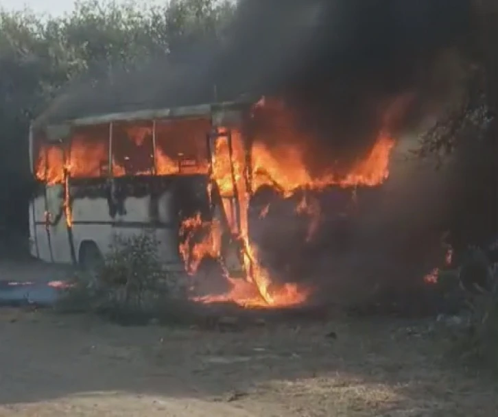
M 109 125 L 74 128 L 69 151 L 72 178 L 99 178 L 109 171 Z

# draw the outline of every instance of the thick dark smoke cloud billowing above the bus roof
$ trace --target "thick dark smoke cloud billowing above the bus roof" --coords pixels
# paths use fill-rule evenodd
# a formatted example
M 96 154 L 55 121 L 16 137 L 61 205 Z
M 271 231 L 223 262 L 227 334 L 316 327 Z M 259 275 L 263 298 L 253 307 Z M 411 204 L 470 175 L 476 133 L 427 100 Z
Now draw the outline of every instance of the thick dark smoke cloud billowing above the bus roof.
M 221 40 L 112 85 L 73 86 L 43 119 L 274 94 L 299 106 L 306 126 L 333 128 L 337 145 L 375 130 L 382 99 L 420 87 L 469 16 L 469 0 L 241 0 Z

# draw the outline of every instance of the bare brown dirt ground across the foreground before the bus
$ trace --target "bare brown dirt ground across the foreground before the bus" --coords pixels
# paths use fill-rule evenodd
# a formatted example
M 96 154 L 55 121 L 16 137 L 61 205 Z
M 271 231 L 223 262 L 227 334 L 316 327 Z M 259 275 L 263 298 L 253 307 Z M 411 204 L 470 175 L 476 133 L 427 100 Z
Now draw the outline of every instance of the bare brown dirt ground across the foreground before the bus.
M 321 319 L 221 332 L 3 308 L 0 416 L 498 414 L 497 383 L 442 355 L 434 320 Z

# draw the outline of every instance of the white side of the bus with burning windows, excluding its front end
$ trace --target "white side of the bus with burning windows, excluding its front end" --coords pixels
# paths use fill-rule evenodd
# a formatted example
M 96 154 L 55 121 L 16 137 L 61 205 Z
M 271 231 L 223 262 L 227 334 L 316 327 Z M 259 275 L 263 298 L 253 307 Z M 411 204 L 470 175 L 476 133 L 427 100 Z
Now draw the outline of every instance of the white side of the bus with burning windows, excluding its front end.
M 32 128 L 31 166 L 39 182 L 30 208 L 32 254 L 85 265 L 106 253 L 113 233 L 146 229 L 161 242 L 163 261 L 182 265 L 185 219 L 199 215 L 204 222 L 217 213 L 232 228 L 239 222 L 237 187 L 224 184 L 220 195 L 209 183 L 215 159 L 230 160 L 230 126 L 241 123 L 245 106 L 129 112 Z

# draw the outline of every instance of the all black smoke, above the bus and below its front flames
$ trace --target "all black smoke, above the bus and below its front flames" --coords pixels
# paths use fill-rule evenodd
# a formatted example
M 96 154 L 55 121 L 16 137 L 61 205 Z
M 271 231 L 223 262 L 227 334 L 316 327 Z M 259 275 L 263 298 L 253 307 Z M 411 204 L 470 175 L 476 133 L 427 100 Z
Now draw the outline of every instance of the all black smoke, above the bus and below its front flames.
M 304 136 L 310 167 L 327 167 L 338 157 L 352 160 L 368 152 L 386 122 L 386 110 L 400 95 L 412 100 L 390 128 L 401 134 L 423 117 L 438 99 L 428 82 L 434 63 L 445 50 L 463 43 L 469 32 L 469 3 L 241 0 L 221 40 L 190 45 L 176 61 L 161 60 L 137 73 L 116 75 L 112 86 L 69 88 L 40 122 L 233 100 L 244 94 L 274 95 L 285 99 L 296 123 L 310 133 Z M 399 178 L 410 180 L 412 171 L 403 175 Z M 395 197 L 386 193 L 383 203 L 365 200 L 366 216 L 349 243 L 353 250 L 334 259 L 329 246 L 322 245 L 321 252 L 313 248 L 318 258 L 300 265 L 298 275 L 312 263 L 318 268 L 316 276 L 347 281 L 356 292 L 358 277 L 371 284 L 379 276 L 405 274 L 408 261 L 418 264 L 439 239 L 441 225 L 428 215 L 439 195 L 436 187 L 427 194 L 426 185 L 434 184 L 430 178 L 409 184 Z M 289 227 L 282 229 L 292 230 L 293 225 L 291 216 Z M 265 230 L 281 248 L 286 237 L 270 226 Z M 331 230 L 321 230 L 325 243 L 335 239 L 337 232 Z M 291 248 L 282 254 L 285 259 L 304 256 Z M 413 259 L 405 259 L 407 254 L 414 254 Z

